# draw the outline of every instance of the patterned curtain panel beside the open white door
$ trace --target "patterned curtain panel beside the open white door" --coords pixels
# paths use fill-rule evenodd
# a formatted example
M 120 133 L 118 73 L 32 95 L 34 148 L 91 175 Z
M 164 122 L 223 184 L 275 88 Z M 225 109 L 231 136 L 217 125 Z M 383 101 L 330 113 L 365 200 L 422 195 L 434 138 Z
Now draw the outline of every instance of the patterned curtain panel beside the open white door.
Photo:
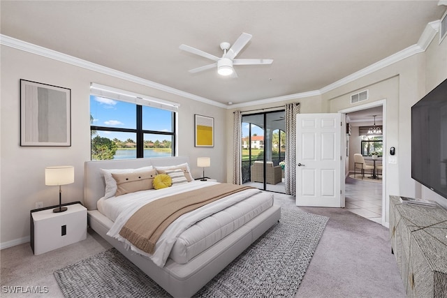
M 286 167 L 284 168 L 284 179 L 287 195 L 296 195 L 296 115 L 299 113 L 299 103 L 286 104 Z

